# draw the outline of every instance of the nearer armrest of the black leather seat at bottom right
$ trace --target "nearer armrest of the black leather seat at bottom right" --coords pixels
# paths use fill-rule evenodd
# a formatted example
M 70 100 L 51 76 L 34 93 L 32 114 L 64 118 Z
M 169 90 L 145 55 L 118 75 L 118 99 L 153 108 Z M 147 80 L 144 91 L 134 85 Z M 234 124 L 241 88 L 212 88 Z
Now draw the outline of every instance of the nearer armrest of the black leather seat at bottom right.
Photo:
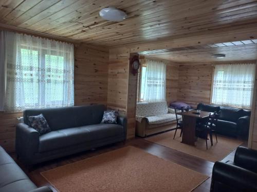
M 220 186 L 220 184 L 241 191 L 257 191 L 256 180 L 257 174 L 254 172 L 218 161 L 213 166 L 210 191 L 219 191 L 215 189 L 215 186 Z

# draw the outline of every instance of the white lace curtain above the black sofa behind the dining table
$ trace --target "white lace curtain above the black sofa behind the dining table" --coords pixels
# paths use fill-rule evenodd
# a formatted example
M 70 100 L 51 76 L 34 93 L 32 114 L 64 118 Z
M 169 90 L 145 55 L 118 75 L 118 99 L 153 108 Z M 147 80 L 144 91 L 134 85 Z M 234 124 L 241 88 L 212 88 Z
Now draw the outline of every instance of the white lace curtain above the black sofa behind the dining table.
M 255 64 L 216 65 L 213 76 L 212 103 L 251 108 Z

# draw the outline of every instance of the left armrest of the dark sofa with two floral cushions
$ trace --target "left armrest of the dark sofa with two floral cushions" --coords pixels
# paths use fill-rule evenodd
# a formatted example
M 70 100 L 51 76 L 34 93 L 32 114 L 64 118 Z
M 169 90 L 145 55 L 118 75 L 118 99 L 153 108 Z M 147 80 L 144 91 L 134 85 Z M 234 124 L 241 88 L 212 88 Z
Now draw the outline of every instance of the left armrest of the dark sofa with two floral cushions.
M 29 160 L 34 153 L 38 152 L 39 132 L 25 123 L 17 124 L 15 148 L 22 160 Z

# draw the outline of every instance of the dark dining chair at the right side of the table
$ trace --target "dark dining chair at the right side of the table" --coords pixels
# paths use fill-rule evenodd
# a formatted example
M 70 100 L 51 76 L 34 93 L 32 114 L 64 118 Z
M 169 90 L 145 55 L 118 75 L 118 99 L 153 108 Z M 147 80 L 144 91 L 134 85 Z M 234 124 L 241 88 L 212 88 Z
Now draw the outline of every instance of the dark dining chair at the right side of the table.
M 208 135 L 210 137 L 210 141 L 211 141 L 211 145 L 213 145 L 213 139 L 212 139 L 212 135 L 215 134 L 216 137 L 216 142 L 218 142 L 217 140 L 217 134 L 216 134 L 216 122 L 217 122 L 217 114 L 211 114 L 208 117 L 208 120 L 206 121 L 206 123 L 204 125 L 196 125 L 196 134 L 195 134 L 195 141 L 198 140 L 198 137 L 201 135 L 204 137 L 205 141 L 206 141 L 206 149 L 208 150 Z

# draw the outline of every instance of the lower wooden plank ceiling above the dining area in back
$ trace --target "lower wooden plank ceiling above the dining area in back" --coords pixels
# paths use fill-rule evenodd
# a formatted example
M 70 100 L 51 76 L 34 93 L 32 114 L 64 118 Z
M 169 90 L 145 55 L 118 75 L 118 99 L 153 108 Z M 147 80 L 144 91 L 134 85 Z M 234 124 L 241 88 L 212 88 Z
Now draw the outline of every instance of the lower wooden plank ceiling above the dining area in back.
M 143 51 L 139 53 L 150 58 L 173 62 L 240 61 L 257 59 L 257 39 L 223 42 L 219 44 Z M 213 54 L 225 54 L 215 58 Z

